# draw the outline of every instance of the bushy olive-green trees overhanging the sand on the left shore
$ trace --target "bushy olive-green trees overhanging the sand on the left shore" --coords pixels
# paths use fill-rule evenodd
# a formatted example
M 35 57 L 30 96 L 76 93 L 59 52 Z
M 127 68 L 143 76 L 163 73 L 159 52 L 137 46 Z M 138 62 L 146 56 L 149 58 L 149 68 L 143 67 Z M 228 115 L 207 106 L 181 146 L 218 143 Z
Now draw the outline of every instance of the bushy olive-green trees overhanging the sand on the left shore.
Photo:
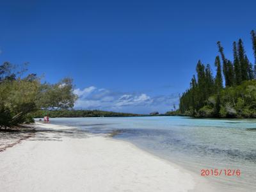
M 74 106 L 72 79 L 41 83 L 36 74 L 24 73 L 9 62 L 0 65 L 0 131 L 33 122 L 32 113 L 40 110 L 68 109 Z

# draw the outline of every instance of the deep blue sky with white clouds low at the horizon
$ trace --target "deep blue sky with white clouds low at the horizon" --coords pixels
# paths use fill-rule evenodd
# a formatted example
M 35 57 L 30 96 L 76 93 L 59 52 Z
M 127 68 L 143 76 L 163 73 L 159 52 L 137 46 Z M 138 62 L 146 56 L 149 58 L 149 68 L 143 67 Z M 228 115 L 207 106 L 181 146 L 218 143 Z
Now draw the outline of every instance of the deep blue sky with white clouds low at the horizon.
M 45 81 L 72 77 L 76 108 L 164 113 L 179 102 L 196 62 L 242 38 L 253 61 L 255 1 L 5 1 L 0 62 Z

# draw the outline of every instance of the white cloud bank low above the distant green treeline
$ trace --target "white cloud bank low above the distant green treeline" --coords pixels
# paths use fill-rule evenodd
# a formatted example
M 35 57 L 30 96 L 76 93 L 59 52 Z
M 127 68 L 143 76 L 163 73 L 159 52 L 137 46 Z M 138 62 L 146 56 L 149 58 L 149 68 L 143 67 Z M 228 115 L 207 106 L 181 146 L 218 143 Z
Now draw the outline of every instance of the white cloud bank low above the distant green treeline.
M 102 109 L 128 113 L 150 113 L 170 111 L 173 103 L 177 104 L 177 94 L 150 97 L 146 93 L 120 93 L 104 88 L 90 86 L 83 90 L 74 90 L 79 96 L 75 104 L 76 109 Z

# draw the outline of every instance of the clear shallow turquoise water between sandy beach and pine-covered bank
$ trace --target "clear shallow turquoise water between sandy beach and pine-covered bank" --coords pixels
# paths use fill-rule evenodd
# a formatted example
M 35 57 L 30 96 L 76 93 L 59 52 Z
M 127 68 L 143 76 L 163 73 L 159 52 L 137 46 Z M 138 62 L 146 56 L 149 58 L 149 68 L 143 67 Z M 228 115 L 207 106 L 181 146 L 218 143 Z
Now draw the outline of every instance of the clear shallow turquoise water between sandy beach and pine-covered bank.
M 96 134 L 115 132 L 114 138 L 130 141 L 198 175 L 202 169 L 240 170 L 239 177 L 205 178 L 225 191 L 256 191 L 256 120 L 145 116 L 52 118 L 51 123 Z

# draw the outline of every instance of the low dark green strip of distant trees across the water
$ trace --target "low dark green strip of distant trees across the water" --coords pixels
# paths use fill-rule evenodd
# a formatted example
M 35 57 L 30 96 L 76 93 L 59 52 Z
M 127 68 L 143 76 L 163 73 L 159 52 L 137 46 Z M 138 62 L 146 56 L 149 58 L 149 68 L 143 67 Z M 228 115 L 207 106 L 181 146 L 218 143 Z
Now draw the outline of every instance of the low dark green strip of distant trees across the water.
M 42 118 L 45 115 L 49 117 L 100 117 L 100 116 L 141 116 L 132 113 L 117 113 L 113 111 L 100 110 L 74 110 L 74 109 L 60 109 L 60 110 L 42 110 L 36 111 L 32 114 L 34 118 Z

